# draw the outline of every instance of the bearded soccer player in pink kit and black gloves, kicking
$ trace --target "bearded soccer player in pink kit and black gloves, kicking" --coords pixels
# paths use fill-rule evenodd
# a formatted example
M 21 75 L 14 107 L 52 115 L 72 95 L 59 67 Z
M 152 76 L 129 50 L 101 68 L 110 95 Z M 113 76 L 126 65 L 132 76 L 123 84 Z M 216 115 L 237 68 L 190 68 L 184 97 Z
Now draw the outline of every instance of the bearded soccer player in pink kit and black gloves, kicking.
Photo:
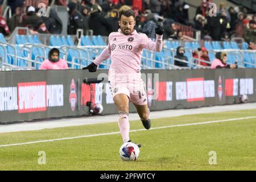
M 108 47 L 83 69 L 96 72 L 97 66 L 111 56 L 109 68 L 110 91 L 114 104 L 118 108 L 118 126 L 123 143 L 131 142 L 129 138 L 129 101 L 133 102 L 145 129 L 150 129 L 150 110 L 147 106 L 147 93 L 141 78 L 141 56 L 143 48 L 160 52 L 163 42 L 163 28 L 155 28 L 156 40 L 152 41 L 146 34 L 134 30 L 135 13 L 131 9 L 119 12 L 119 30 L 109 35 Z M 138 144 L 141 147 L 141 144 Z

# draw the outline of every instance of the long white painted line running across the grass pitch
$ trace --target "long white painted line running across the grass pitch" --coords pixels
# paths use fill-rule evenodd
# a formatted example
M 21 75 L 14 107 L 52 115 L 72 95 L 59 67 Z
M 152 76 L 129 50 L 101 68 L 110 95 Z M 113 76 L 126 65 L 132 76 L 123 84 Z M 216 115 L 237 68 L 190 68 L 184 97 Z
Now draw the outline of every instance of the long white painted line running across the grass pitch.
M 192 125 L 206 125 L 210 123 L 220 123 L 220 122 L 228 122 L 228 121 L 238 121 L 243 119 L 253 119 L 256 118 L 256 116 L 253 117 L 245 117 L 245 118 L 233 118 L 233 119 L 224 119 L 224 120 L 218 120 L 218 121 L 207 121 L 207 122 L 199 122 L 199 123 L 188 123 L 183 125 L 171 125 L 171 126 L 161 126 L 161 127 L 153 127 L 150 130 L 158 130 L 158 129 L 166 129 L 170 127 L 181 127 L 181 126 L 192 126 Z M 139 129 L 139 130 L 130 130 L 130 132 L 137 132 L 137 131 L 146 131 L 146 129 Z M 14 144 L 3 144 L 0 145 L 0 147 L 9 147 L 9 146 L 20 146 L 24 144 L 33 144 L 33 143 L 43 143 L 43 142 L 55 142 L 59 140 L 70 140 L 70 139 L 77 139 L 77 138 L 88 138 L 88 137 L 98 137 L 98 136 L 104 136 L 104 135 L 115 135 L 119 134 L 120 132 L 112 132 L 112 133 L 102 133 L 102 134 L 93 134 L 93 135 L 82 135 L 79 137 L 68 137 L 68 138 L 56 138 L 56 139 L 49 139 L 49 140 L 38 140 L 34 142 L 25 142 L 25 143 L 14 143 Z

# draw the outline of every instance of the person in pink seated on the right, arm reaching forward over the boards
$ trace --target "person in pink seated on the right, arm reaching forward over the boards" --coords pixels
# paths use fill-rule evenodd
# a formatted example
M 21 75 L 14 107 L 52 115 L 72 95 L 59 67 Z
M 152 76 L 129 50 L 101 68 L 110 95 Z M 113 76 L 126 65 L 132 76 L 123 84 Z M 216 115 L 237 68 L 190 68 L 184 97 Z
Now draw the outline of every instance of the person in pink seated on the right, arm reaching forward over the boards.
M 213 60 L 212 65 L 210 68 L 237 68 L 237 64 L 227 64 L 226 63 L 226 52 L 217 52 L 216 59 Z

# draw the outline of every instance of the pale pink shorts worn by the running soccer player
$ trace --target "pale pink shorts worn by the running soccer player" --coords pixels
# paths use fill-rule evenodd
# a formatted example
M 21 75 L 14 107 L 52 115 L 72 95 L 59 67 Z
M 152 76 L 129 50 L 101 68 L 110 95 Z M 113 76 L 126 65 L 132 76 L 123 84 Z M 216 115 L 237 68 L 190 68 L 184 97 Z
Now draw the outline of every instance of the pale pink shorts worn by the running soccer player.
M 114 98 L 117 94 L 126 94 L 135 105 L 147 104 L 147 92 L 144 81 L 133 81 L 127 83 L 110 82 L 110 92 Z

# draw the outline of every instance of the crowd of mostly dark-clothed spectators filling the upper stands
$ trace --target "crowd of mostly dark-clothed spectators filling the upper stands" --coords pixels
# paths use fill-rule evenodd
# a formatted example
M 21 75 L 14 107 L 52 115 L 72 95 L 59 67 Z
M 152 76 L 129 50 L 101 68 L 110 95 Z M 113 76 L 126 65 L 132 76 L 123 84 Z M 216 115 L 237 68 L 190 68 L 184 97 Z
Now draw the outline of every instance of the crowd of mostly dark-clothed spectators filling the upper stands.
M 0 3 L 2 0 L 0 0 Z M 26 2 L 26 3 L 25 3 Z M 63 24 L 55 10 L 49 17 L 41 16 L 36 3 L 51 1 L 10 0 L 8 5 L 15 17 L 15 26 L 26 26 L 31 32 L 60 34 Z M 183 32 L 177 30 L 175 23 L 184 24 L 201 31 L 204 40 L 229 41 L 233 37 L 244 38 L 248 43 L 256 43 L 256 14 L 247 15 L 245 7 L 217 7 L 217 16 L 209 16 L 209 3 L 202 0 L 196 9 L 195 17 L 189 21 L 189 8 L 184 0 L 142 0 L 142 5 L 133 0 L 56 0 L 55 4 L 67 6 L 69 13 L 68 34 L 76 34 L 81 28 L 93 30 L 94 35 L 108 36 L 118 30 L 118 10 L 129 6 L 136 11 L 135 29 L 155 39 L 155 27 L 163 25 L 164 39 L 183 40 Z M 26 4 L 26 6 L 25 6 Z M 28 6 L 28 5 L 33 6 Z M 25 7 L 24 7 L 25 6 Z M 35 6 L 35 7 L 34 7 Z M 4 32 L 4 31 L 2 31 Z

